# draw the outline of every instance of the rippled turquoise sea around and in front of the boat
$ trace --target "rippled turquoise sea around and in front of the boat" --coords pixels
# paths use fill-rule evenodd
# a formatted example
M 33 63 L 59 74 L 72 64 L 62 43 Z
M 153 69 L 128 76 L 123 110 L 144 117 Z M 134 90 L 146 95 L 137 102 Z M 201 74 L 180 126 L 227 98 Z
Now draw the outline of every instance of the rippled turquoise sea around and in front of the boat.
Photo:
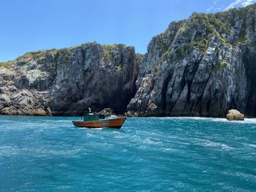
M 0 115 L 0 191 L 256 191 L 256 119 Z

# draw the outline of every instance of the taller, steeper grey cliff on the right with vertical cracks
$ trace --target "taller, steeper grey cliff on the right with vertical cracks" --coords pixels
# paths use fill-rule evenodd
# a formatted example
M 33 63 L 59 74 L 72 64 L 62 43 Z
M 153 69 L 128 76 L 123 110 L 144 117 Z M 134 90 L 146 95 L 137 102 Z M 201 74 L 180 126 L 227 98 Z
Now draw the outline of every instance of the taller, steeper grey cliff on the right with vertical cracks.
M 154 37 L 128 115 L 256 115 L 256 5 L 193 14 Z

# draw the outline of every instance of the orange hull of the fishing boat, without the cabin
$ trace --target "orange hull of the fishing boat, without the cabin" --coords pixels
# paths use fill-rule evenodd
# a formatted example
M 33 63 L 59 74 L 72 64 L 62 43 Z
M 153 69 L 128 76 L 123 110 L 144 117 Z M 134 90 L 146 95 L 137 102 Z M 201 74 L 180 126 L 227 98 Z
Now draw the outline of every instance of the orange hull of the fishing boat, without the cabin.
M 124 124 L 124 120 L 127 117 L 113 118 L 113 119 L 103 119 L 103 120 L 92 120 L 92 121 L 72 121 L 74 126 L 87 127 L 87 128 L 121 128 Z

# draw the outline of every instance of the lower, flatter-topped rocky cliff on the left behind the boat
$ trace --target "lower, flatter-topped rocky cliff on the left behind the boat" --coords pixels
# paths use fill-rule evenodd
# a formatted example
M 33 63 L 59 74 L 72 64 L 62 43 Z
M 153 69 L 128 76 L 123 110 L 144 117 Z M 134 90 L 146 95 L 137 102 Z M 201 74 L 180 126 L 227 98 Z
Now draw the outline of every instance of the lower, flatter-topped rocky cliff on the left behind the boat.
M 97 43 L 26 53 L 0 67 L 0 113 L 73 115 L 88 107 L 124 113 L 141 58 L 134 47 Z

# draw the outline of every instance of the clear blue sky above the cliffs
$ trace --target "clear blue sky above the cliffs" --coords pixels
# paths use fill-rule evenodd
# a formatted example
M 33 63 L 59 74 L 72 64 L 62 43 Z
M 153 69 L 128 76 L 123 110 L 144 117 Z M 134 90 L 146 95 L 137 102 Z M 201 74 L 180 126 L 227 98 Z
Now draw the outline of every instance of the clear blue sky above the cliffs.
M 29 51 L 123 43 L 146 53 L 151 38 L 192 12 L 220 12 L 256 0 L 0 0 L 0 62 Z

